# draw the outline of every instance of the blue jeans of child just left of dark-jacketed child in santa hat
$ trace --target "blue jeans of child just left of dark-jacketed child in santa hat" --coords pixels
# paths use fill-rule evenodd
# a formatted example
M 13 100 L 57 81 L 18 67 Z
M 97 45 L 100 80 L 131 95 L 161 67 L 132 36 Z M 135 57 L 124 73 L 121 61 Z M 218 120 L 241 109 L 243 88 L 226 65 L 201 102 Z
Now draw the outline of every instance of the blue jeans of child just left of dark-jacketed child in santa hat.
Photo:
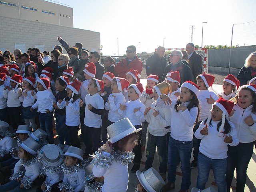
M 53 144 L 53 130 L 52 130 L 52 112 L 51 113 L 41 113 L 39 112 L 39 122 L 40 128 L 48 134 L 49 144 Z

